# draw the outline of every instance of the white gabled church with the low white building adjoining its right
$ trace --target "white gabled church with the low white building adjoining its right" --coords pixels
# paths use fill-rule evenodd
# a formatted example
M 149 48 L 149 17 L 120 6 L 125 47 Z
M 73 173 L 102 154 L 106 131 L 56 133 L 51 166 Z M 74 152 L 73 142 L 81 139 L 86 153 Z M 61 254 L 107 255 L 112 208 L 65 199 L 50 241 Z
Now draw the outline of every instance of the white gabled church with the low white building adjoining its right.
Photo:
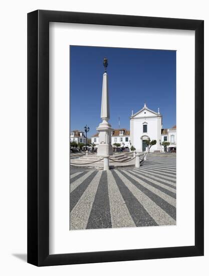
M 148 151 L 146 140 L 156 140 L 156 145 L 150 148 L 150 152 L 162 152 L 168 149 L 176 150 L 176 126 L 172 128 L 162 128 L 162 115 L 158 111 L 149 109 L 146 104 L 130 117 L 130 141 L 136 151 Z M 162 146 L 162 142 L 169 142 L 167 147 Z

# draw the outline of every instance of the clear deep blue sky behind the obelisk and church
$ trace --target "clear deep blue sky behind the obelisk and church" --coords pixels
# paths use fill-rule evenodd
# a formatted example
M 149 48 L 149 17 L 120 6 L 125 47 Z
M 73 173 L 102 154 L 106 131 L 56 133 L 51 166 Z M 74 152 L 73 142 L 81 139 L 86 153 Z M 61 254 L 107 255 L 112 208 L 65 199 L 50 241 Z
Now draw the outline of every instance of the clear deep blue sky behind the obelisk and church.
M 108 58 L 110 124 L 130 129 L 131 110 L 160 108 L 163 128 L 176 123 L 176 52 L 168 50 L 70 46 L 71 130 L 95 134 L 101 122 L 103 59 Z

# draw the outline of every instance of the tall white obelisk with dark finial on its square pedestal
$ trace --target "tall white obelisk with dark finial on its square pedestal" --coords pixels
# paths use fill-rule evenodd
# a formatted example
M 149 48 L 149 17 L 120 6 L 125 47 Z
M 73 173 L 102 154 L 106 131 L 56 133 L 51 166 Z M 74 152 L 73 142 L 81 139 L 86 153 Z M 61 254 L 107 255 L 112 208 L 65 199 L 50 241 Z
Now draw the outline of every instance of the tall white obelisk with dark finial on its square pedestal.
M 107 79 L 107 68 L 108 62 L 107 59 L 104 59 L 105 72 L 103 74 L 103 84 L 102 84 L 102 104 L 101 104 L 101 119 L 102 122 L 97 127 L 99 132 L 99 145 L 97 146 L 97 155 L 98 156 L 109 156 L 112 155 L 112 145 L 111 145 L 111 133 L 112 127 L 108 123 L 110 119 L 110 110 L 109 110 L 109 94 L 108 94 L 108 79 Z

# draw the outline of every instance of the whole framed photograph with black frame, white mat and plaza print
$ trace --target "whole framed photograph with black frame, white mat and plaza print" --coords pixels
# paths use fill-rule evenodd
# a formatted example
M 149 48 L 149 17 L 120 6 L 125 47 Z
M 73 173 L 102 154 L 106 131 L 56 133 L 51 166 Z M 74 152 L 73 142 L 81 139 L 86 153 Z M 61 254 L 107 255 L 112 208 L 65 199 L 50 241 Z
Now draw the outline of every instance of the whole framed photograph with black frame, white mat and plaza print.
M 28 262 L 203 255 L 203 21 L 28 14 Z

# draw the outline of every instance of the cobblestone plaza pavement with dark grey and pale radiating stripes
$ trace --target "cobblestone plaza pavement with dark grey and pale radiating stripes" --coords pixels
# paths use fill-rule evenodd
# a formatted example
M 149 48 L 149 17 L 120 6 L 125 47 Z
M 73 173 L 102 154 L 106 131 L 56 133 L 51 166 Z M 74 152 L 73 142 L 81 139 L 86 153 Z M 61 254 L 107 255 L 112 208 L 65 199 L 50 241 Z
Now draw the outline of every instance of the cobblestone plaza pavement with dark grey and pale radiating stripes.
M 139 169 L 71 167 L 71 230 L 174 224 L 175 154 L 149 155 Z

